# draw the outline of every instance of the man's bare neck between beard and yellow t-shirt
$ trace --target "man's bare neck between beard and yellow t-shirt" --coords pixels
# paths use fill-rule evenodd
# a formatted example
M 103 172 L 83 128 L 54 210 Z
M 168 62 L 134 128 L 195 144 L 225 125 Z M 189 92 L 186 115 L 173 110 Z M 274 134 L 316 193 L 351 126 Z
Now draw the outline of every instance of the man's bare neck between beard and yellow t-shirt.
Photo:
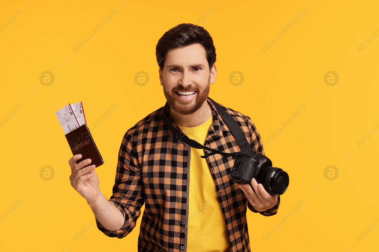
M 196 127 L 207 122 L 212 116 L 211 106 L 207 100 L 201 107 L 192 114 L 178 114 L 171 107 L 169 107 L 171 118 L 177 125 L 184 127 Z

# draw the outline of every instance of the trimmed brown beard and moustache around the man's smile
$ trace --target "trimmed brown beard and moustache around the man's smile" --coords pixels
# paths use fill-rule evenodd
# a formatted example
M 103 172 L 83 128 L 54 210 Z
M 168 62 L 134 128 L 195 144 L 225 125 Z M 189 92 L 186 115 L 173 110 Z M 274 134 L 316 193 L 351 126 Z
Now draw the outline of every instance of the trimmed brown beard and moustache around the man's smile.
M 180 100 L 178 95 L 174 90 L 167 90 L 164 87 L 164 80 L 163 81 L 163 93 L 164 96 L 166 96 L 167 103 L 170 105 L 170 107 L 178 114 L 182 115 L 187 115 L 187 114 L 193 114 L 195 113 L 207 100 L 208 95 L 209 95 L 209 90 L 210 90 L 210 80 L 211 80 L 211 75 L 209 74 L 208 78 L 208 85 L 205 87 L 204 90 L 199 90 L 197 86 L 188 86 L 186 88 L 183 88 L 182 85 L 179 85 L 177 91 L 196 91 L 196 97 L 195 101 L 193 100 Z M 195 95 L 195 94 L 194 94 Z

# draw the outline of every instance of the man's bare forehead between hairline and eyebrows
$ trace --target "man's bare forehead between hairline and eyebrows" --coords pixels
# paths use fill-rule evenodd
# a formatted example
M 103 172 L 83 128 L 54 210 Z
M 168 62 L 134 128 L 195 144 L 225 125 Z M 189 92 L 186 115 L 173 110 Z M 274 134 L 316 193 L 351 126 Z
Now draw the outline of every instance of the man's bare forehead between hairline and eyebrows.
M 166 60 L 164 67 L 169 64 L 189 66 L 194 64 L 208 65 L 206 51 L 202 44 L 195 43 L 185 47 L 177 47 L 168 50 L 166 53 Z

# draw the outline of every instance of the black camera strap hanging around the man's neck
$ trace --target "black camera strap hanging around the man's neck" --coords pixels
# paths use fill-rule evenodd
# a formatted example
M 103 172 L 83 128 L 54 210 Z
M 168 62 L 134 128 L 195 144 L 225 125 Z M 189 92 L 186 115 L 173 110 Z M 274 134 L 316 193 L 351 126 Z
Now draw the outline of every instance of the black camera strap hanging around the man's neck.
M 219 150 L 209 148 L 207 146 L 203 146 L 199 142 L 188 138 L 188 136 L 185 135 L 182 130 L 175 127 L 172 124 L 172 122 L 167 118 L 165 111 L 166 111 L 166 108 L 168 106 L 168 102 L 166 102 L 166 104 L 164 105 L 164 108 L 163 108 L 163 120 L 164 120 L 164 122 L 166 122 L 166 125 L 168 126 L 170 131 L 173 133 L 173 135 L 175 135 L 175 137 L 177 137 L 177 138 L 182 139 L 182 141 L 185 144 L 188 144 L 189 146 L 196 148 L 196 149 L 205 149 L 205 150 L 211 151 L 210 153 L 206 154 L 205 156 L 200 156 L 201 158 L 207 158 L 208 156 L 213 155 L 213 154 L 220 154 L 224 157 L 239 156 L 239 155 L 246 155 L 246 154 L 252 155 L 254 152 L 251 148 L 251 145 L 249 144 L 249 142 L 247 142 L 245 133 L 241 130 L 240 126 L 235 121 L 235 119 L 233 119 L 233 117 L 224 108 L 222 108 L 217 102 L 215 102 L 214 100 L 212 100 L 209 97 L 208 97 L 208 100 L 210 101 L 210 103 L 215 108 L 215 113 L 219 114 L 221 116 L 221 118 L 225 121 L 227 127 L 232 132 L 232 135 L 236 139 L 237 144 L 240 147 L 241 152 L 233 152 L 233 153 L 221 152 Z

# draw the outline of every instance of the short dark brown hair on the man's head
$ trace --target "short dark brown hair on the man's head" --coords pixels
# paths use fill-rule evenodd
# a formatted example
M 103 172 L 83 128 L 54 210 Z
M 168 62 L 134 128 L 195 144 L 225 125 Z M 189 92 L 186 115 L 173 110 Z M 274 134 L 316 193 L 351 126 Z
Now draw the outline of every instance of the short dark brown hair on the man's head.
M 205 48 L 205 56 L 207 57 L 209 69 L 211 70 L 213 64 L 216 62 L 216 48 L 213 45 L 213 39 L 208 31 L 201 26 L 191 23 L 182 23 L 168 31 L 158 40 L 155 47 L 155 56 L 160 69 L 163 70 L 163 65 L 166 57 L 167 50 L 174 50 L 173 48 L 185 47 L 194 43 L 200 43 Z

